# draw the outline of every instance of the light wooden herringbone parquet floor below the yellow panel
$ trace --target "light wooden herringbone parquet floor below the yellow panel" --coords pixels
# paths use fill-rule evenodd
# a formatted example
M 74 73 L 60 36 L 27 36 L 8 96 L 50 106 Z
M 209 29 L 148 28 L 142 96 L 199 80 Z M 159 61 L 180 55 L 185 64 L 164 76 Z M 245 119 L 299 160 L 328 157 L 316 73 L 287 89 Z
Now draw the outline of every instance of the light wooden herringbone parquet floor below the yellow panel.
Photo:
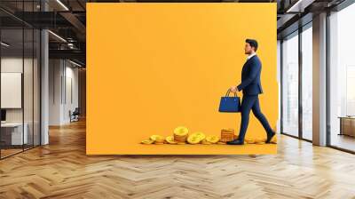
M 286 136 L 278 155 L 85 155 L 85 125 L 0 161 L 0 198 L 355 198 L 355 155 Z

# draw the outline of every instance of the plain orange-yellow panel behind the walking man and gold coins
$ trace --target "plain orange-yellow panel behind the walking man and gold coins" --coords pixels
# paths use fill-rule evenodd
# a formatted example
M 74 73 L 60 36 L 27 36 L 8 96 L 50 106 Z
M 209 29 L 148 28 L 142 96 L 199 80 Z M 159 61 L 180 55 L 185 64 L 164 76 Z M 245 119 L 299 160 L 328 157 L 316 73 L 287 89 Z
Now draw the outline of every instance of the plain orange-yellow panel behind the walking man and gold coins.
M 276 4 L 87 4 L 87 154 L 274 154 L 276 145 L 141 145 L 175 127 L 220 135 L 240 114 L 218 112 L 240 84 L 246 38 L 262 60 L 260 103 L 278 118 Z M 241 96 L 240 96 L 241 97 Z M 266 137 L 250 113 L 247 138 Z

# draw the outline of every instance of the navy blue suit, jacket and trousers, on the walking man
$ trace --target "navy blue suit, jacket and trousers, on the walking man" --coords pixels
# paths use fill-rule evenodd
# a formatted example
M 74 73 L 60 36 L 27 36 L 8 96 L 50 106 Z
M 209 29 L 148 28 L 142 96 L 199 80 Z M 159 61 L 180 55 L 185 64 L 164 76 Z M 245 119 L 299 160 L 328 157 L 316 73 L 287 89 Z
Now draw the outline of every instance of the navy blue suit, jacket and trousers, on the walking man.
M 263 124 L 266 133 L 273 133 L 270 124 L 260 110 L 258 94 L 263 93 L 260 74 L 261 61 L 254 55 L 245 62 L 241 70 L 241 84 L 237 86 L 238 91 L 243 92 L 243 99 L 241 101 L 241 129 L 239 132 L 239 139 L 241 140 L 244 140 L 245 133 L 247 132 L 250 109 L 260 123 Z

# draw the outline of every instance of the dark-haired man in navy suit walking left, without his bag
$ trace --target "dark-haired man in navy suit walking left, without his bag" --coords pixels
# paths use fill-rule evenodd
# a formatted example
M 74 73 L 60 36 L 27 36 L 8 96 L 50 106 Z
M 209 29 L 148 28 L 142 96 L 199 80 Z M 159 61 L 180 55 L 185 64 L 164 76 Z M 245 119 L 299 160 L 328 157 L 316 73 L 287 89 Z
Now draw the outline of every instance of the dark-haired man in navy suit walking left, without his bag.
M 245 54 L 248 54 L 248 60 L 241 69 L 241 84 L 232 86 L 232 92 L 243 92 L 243 99 L 241 100 L 241 129 L 239 138 L 233 141 L 228 141 L 229 145 L 243 145 L 245 133 L 247 132 L 250 109 L 253 114 L 263 124 L 264 130 L 267 133 L 266 143 L 269 143 L 275 132 L 272 131 L 270 124 L 266 117 L 260 110 L 258 95 L 263 93 L 260 83 L 261 61 L 256 55 L 257 42 L 254 39 L 247 39 L 245 41 Z

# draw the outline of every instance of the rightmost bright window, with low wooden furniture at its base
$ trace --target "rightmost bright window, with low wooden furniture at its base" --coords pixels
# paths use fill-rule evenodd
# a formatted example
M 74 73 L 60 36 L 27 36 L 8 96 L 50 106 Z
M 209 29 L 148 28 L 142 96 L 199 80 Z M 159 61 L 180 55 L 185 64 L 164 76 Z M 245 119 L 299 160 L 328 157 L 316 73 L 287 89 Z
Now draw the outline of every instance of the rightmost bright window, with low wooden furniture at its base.
M 355 4 L 329 16 L 329 141 L 355 151 Z

